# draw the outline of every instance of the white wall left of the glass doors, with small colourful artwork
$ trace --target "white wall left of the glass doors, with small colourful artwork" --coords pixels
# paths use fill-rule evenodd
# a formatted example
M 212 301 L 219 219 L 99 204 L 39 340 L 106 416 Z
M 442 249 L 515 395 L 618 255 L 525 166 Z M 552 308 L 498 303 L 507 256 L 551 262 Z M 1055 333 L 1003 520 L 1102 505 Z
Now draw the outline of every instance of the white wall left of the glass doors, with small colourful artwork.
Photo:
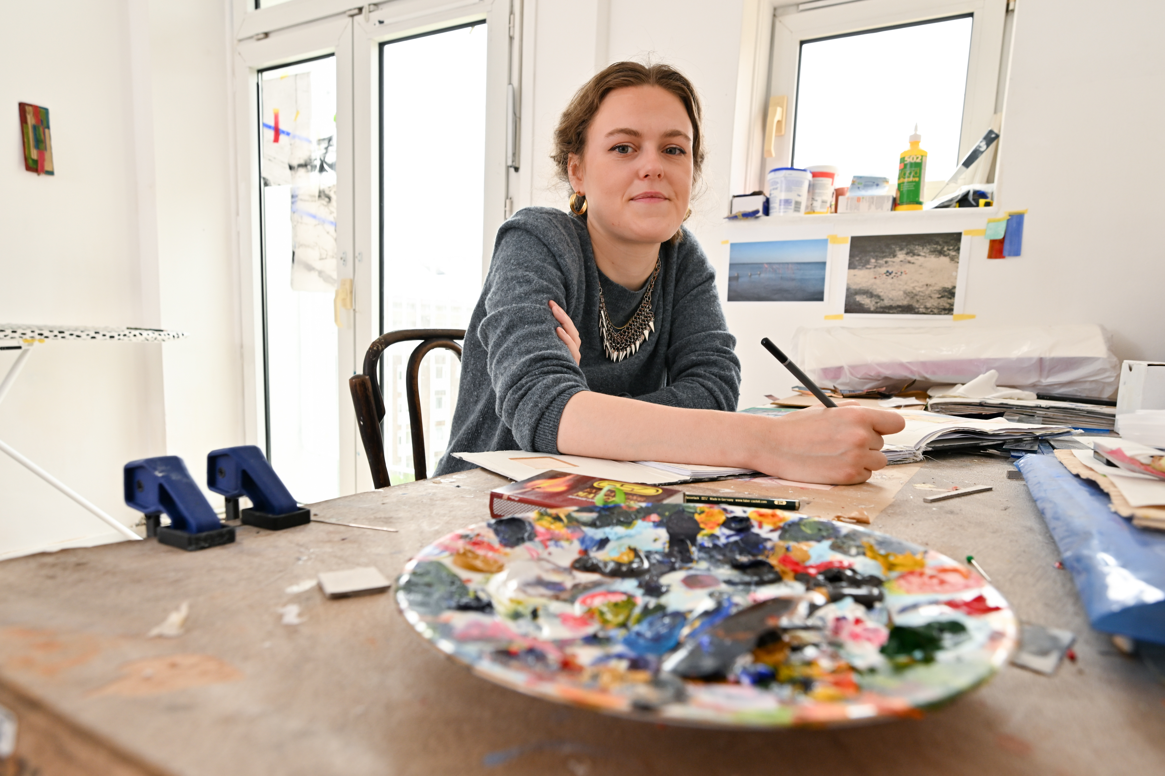
M 0 439 L 126 524 L 140 517 L 122 501 L 126 462 L 177 454 L 200 478 L 207 450 L 242 439 L 225 15 L 65 0 L 51 34 L 27 35 L 13 8 L 0 30 L 0 319 L 191 334 L 36 346 L 0 404 Z M 50 111 L 54 177 L 23 169 L 17 101 Z M 0 455 L 0 558 L 114 537 Z

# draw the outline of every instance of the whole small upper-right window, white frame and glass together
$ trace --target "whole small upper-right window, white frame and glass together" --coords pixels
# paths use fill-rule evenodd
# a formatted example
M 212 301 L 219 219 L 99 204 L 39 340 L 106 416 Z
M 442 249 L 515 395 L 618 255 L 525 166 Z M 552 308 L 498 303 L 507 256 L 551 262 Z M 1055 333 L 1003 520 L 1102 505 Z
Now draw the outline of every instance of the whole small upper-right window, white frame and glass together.
M 772 5 L 761 142 L 741 191 L 764 188 L 774 168 L 818 164 L 839 168 L 839 185 L 853 175 L 894 183 L 917 123 L 933 194 L 988 129 L 1000 129 L 1005 2 Z M 770 98 L 786 101 L 784 126 L 764 135 Z M 975 183 L 988 180 L 997 147 L 972 170 Z

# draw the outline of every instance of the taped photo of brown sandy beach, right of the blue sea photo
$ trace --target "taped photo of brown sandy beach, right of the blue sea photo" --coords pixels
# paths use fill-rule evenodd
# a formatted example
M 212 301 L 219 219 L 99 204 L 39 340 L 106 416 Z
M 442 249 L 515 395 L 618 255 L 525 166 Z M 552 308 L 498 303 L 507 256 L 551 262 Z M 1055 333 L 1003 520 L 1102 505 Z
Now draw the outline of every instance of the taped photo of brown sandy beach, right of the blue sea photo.
M 845 312 L 953 314 L 961 243 L 959 232 L 853 237 Z

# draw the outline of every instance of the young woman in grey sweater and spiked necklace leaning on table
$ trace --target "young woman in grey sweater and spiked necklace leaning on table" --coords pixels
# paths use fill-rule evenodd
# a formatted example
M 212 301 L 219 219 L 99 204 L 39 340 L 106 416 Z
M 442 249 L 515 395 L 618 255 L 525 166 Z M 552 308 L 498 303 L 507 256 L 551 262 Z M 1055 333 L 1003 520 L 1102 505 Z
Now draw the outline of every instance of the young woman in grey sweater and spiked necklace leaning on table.
M 610 65 L 571 100 L 553 159 L 567 215 L 497 232 L 465 335 L 451 453 L 530 450 L 860 483 L 885 465 L 892 412 L 737 414 L 740 362 L 715 273 L 690 232 L 700 104 L 666 65 Z M 446 453 L 437 474 L 473 468 Z

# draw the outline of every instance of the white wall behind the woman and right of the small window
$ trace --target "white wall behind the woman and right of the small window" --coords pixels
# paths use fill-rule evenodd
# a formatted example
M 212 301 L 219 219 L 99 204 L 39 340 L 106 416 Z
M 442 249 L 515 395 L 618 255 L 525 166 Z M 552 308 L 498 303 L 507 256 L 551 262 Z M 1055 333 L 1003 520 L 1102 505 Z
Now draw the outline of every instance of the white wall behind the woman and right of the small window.
M 733 148 L 733 123 L 750 115 L 741 104 L 748 85 L 741 100 L 737 86 L 749 72 L 756 7 L 755 0 L 525 0 L 525 30 L 536 38 L 523 73 L 523 187 L 515 205 L 565 207 L 567 192 L 555 184 L 549 159 L 551 133 L 574 90 L 601 65 L 647 56 L 673 64 L 705 104 L 706 188 L 689 226 L 718 268 L 723 294 L 721 216 L 728 195 L 742 193 L 728 181 L 744 178 L 733 166 L 747 161 Z M 1153 0 L 1019 0 L 997 204 L 1028 208 L 1024 255 L 990 261 L 986 241 L 974 247 L 966 312 L 976 318 L 959 326 L 1097 322 L 1114 334 L 1118 357 L 1165 358 L 1165 337 L 1149 312 L 1165 289 L 1165 261 L 1146 229 L 1151 205 L 1138 207 L 1165 173 L 1155 136 L 1165 120 L 1156 99 L 1165 56 L 1152 38 L 1163 23 L 1165 5 Z M 735 133 L 737 145 L 747 135 Z M 741 406 L 793 383 L 757 346 L 762 336 L 789 342 L 799 326 L 855 325 L 826 323 L 824 306 L 807 302 L 726 302 L 725 309 L 743 364 Z

